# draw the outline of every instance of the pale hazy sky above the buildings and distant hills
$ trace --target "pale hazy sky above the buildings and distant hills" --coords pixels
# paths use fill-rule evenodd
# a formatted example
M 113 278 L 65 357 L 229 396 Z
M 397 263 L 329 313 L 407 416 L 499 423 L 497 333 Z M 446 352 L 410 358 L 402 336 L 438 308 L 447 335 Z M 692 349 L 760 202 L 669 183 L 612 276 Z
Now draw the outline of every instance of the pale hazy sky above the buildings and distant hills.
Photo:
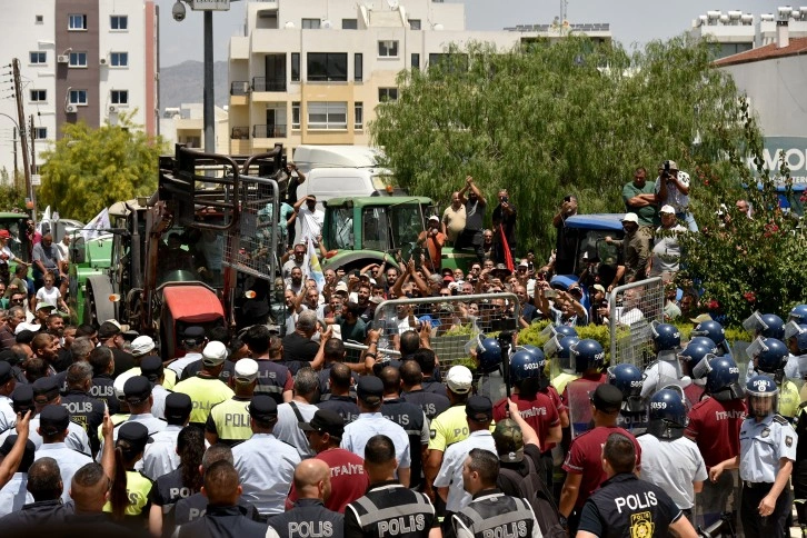
M 306 0 L 281 0 L 306 1 Z M 455 0 L 459 1 L 459 0 Z M 462 0 L 466 28 L 500 30 L 516 24 L 550 23 L 560 13 L 559 0 Z M 202 13 L 188 9 L 182 22 L 171 17 L 175 0 L 160 6 L 160 56 L 162 67 L 186 60 L 202 60 Z M 709 9 L 741 10 L 759 16 L 773 13 L 784 2 L 771 0 L 568 0 L 569 22 L 609 22 L 614 38 L 626 47 L 641 47 L 689 30 L 693 19 Z M 231 36 L 243 34 L 246 0 L 233 1 L 229 12 L 213 13 L 216 60 L 226 60 Z

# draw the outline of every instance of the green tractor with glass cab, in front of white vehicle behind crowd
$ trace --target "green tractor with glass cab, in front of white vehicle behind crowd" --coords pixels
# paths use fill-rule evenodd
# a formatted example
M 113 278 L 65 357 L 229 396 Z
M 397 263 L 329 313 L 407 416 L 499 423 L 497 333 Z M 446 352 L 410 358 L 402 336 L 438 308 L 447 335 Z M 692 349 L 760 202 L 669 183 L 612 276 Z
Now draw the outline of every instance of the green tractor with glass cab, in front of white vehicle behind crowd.
M 419 260 L 418 235 L 431 215 L 436 208 L 426 197 L 331 198 L 322 226 L 322 241 L 330 250 L 322 268 L 350 271 L 370 263 Z M 444 268 L 467 270 L 475 260 L 472 250 L 442 248 Z

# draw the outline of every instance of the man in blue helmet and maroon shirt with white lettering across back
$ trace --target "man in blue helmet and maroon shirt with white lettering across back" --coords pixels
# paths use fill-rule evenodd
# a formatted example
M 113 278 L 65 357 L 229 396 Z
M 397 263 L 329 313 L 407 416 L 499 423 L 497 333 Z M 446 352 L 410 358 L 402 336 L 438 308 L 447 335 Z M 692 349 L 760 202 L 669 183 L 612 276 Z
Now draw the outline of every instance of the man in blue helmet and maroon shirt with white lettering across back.
M 707 472 L 719 462 L 739 454 L 739 431 L 746 418 L 745 391 L 739 385 L 739 368 L 731 357 L 704 359 L 708 365 L 706 395 L 688 414 L 684 435 L 698 445 Z M 697 522 L 708 527 L 728 509 L 729 497 L 738 505 L 737 471 L 724 472 L 717 481 L 707 480 L 697 495 Z

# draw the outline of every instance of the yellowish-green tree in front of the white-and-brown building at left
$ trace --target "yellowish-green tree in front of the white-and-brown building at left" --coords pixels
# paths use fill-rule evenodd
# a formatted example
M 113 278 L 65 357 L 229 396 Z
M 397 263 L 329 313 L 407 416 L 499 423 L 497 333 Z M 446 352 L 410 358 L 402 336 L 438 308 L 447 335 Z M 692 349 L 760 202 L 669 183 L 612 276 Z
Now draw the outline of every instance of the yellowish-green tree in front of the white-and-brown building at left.
M 116 201 L 153 193 L 163 143 L 145 134 L 132 116 L 119 114 L 117 124 L 98 129 L 67 123 L 62 138 L 42 155 L 39 205 L 88 221 Z

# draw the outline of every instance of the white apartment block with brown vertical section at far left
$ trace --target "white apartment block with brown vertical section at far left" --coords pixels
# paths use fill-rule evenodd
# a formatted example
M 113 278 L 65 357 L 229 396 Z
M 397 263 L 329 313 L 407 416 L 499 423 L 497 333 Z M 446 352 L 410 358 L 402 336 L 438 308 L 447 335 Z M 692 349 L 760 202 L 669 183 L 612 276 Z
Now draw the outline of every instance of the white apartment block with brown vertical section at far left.
M 133 120 L 157 134 L 158 8 L 155 0 L 29 0 L 4 12 L 3 64 L 20 60 L 22 103 L 33 116 L 36 162 L 64 123 L 100 127 L 137 110 Z M 6 96 L 8 97 L 8 96 Z M 10 117 L 7 118 L 6 116 Z M 0 169 L 9 173 L 17 104 L 0 100 Z

